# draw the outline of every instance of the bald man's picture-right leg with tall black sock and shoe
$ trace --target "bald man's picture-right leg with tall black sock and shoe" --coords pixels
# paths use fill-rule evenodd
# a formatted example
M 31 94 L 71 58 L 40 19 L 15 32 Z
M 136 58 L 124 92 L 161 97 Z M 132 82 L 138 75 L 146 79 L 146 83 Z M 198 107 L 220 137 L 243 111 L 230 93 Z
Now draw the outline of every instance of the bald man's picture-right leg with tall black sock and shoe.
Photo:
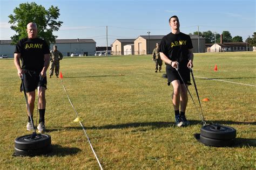
M 45 115 L 45 107 L 46 107 L 46 100 L 45 100 L 45 87 L 38 87 L 38 110 L 39 110 L 39 124 L 37 129 L 40 133 L 45 131 L 44 126 L 44 115 Z

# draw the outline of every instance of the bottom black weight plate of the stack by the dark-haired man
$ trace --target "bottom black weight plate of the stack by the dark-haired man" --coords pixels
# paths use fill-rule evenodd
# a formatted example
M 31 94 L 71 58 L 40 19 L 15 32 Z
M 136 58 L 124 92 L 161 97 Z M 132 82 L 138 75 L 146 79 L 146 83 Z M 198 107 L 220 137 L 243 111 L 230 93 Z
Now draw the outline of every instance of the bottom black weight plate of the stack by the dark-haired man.
M 211 138 L 206 138 L 200 134 L 200 142 L 209 146 L 217 146 L 217 147 L 231 146 L 234 144 L 234 140 L 235 138 L 228 139 L 228 140 L 211 139 Z

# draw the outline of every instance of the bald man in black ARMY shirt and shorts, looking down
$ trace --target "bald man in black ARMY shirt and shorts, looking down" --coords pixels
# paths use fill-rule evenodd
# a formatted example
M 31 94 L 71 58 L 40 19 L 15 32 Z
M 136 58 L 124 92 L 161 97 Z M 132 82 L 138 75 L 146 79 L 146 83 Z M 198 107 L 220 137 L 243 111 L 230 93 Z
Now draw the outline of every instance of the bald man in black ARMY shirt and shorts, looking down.
M 26 31 L 28 33 L 28 38 L 18 41 L 16 45 L 14 63 L 18 70 L 18 76 L 23 77 L 24 87 L 21 86 L 21 91 L 24 88 L 28 95 L 31 117 L 33 116 L 33 110 L 35 108 L 35 90 L 40 87 L 37 89 L 39 98 L 38 109 L 40 115 L 37 129 L 42 133 L 45 130 L 44 114 L 46 105 L 45 90 L 47 84 L 46 70 L 50 63 L 50 51 L 45 40 L 37 38 L 37 25 L 35 23 L 29 23 Z M 20 60 L 22 61 L 22 66 Z M 29 131 L 33 129 L 33 119 L 31 122 L 29 118 L 26 129 Z

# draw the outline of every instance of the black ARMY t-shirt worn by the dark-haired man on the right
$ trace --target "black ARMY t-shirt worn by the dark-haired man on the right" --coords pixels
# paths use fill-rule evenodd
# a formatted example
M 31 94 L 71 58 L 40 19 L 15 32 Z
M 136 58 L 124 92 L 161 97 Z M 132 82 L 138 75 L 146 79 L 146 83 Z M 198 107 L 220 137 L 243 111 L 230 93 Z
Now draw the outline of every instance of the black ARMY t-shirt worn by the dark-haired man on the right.
M 164 53 L 170 60 L 181 64 L 188 62 L 188 49 L 193 48 L 190 36 L 182 32 L 169 33 L 161 40 L 159 52 Z

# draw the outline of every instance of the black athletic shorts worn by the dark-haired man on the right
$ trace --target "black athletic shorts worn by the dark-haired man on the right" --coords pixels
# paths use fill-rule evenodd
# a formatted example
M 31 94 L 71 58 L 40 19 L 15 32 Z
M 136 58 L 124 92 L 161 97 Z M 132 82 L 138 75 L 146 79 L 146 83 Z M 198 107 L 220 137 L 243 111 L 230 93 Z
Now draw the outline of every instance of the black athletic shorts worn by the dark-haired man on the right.
M 179 73 L 187 85 L 191 85 L 190 82 L 190 69 L 187 68 L 186 64 L 180 64 L 179 65 Z M 171 65 L 166 66 L 166 74 L 167 74 L 167 79 L 168 79 L 168 86 L 170 86 L 170 83 L 174 80 L 179 80 L 180 84 L 184 84 L 183 81 L 180 78 L 180 75 L 178 74 L 177 70 L 173 68 Z

